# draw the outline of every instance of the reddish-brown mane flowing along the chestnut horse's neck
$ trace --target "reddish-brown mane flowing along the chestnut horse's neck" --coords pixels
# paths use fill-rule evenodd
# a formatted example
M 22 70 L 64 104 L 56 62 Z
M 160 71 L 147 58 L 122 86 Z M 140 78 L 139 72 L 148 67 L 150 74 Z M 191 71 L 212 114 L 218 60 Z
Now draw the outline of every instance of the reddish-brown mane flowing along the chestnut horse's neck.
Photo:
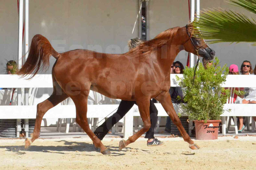
M 151 53 L 152 50 L 154 50 L 156 47 L 161 47 L 167 44 L 169 40 L 172 40 L 179 28 L 180 27 L 174 27 L 163 31 L 152 40 L 145 41 L 136 48 L 131 49 L 129 52 L 126 53 L 126 55 L 132 55 L 132 57 L 139 58 L 145 57 L 148 53 Z

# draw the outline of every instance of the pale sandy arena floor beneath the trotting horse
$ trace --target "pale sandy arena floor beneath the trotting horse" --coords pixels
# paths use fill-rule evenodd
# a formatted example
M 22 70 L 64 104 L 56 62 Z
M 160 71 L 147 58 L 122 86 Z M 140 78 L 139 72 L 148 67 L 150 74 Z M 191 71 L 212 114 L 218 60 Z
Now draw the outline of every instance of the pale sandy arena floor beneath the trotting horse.
M 194 140 L 201 147 L 191 150 L 181 137 L 158 138 L 164 145 L 146 146 L 146 139 L 118 151 L 121 138 L 103 140 L 111 155 L 95 152 L 86 138 L 37 139 L 28 150 L 24 139 L 0 140 L 1 170 L 230 170 L 256 169 L 256 137 L 219 137 Z

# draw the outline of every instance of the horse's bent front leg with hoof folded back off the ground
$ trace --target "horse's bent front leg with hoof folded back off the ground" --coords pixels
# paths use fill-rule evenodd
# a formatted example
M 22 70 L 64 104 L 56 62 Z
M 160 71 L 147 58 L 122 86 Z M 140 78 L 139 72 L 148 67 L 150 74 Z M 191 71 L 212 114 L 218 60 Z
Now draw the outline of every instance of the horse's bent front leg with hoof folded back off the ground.
M 119 151 L 121 151 L 130 143 L 135 142 L 135 140 L 137 140 L 140 136 L 147 132 L 151 126 L 149 116 L 150 98 L 139 99 L 136 100 L 136 102 L 139 107 L 140 117 L 142 118 L 143 121 L 143 129 L 139 130 L 139 132 L 135 133 L 133 136 L 130 136 L 127 140 L 121 140 L 119 142 Z

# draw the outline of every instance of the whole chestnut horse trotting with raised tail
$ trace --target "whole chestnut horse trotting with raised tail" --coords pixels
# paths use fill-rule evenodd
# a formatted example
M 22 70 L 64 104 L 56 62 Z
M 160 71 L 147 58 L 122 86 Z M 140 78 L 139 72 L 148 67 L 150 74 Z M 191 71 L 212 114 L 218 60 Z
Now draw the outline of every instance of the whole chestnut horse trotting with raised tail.
M 89 90 L 93 90 L 110 98 L 136 101 L 139 106 L 143 129 L 128 140 L 121 140 L 119 151 L 149 130 L 149 100 L 152 98 L 161 103 L 183 139 L 190 144 L 189 147 L 199 149 L 182 126 L 169 94 L 171 65 L 181 50 L 206 60 L 214 58 L 215 52 L 203 40 L 196 39 L 191 34 L 191 25 L 170 28 L 124 54 L 106 54 L 84 49 L 58 53 L 44 36 L 35 35 L 27 61 L 18 75 L 24 77 L 32 74 L 32 78 L 40 69 L 49 66 L 50 56 L 56 58 L 56 62 L 52 69 L 53 94 L 37 105 L 35 129 L 32 138 L 26 139 L 25 148 L 39 137 L 44 114 L 70 97 L 75 103 L 76 122 L 102 154 L 111 154 L 90 130 L 87 122 L 87 99 Z

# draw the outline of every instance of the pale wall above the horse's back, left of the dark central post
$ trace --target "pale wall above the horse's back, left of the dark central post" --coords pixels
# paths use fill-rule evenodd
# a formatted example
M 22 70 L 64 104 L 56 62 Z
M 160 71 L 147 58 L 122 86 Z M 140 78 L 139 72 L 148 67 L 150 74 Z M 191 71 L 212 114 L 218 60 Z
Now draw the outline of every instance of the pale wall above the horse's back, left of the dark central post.
M 17 61 L 18 12 L 16 0 L 0 0 L 0 4 L 2 71 L 5 59 Z M 127 41 L 138 36 L 138 25 L 132 33 L 137 11 L 137 0 L 30 0 L 29 46 L 35 34 L 42 34 L 58 52 L 82 48 L 123 53 Z M 51 58 L 47 74 L 54 62 Z

